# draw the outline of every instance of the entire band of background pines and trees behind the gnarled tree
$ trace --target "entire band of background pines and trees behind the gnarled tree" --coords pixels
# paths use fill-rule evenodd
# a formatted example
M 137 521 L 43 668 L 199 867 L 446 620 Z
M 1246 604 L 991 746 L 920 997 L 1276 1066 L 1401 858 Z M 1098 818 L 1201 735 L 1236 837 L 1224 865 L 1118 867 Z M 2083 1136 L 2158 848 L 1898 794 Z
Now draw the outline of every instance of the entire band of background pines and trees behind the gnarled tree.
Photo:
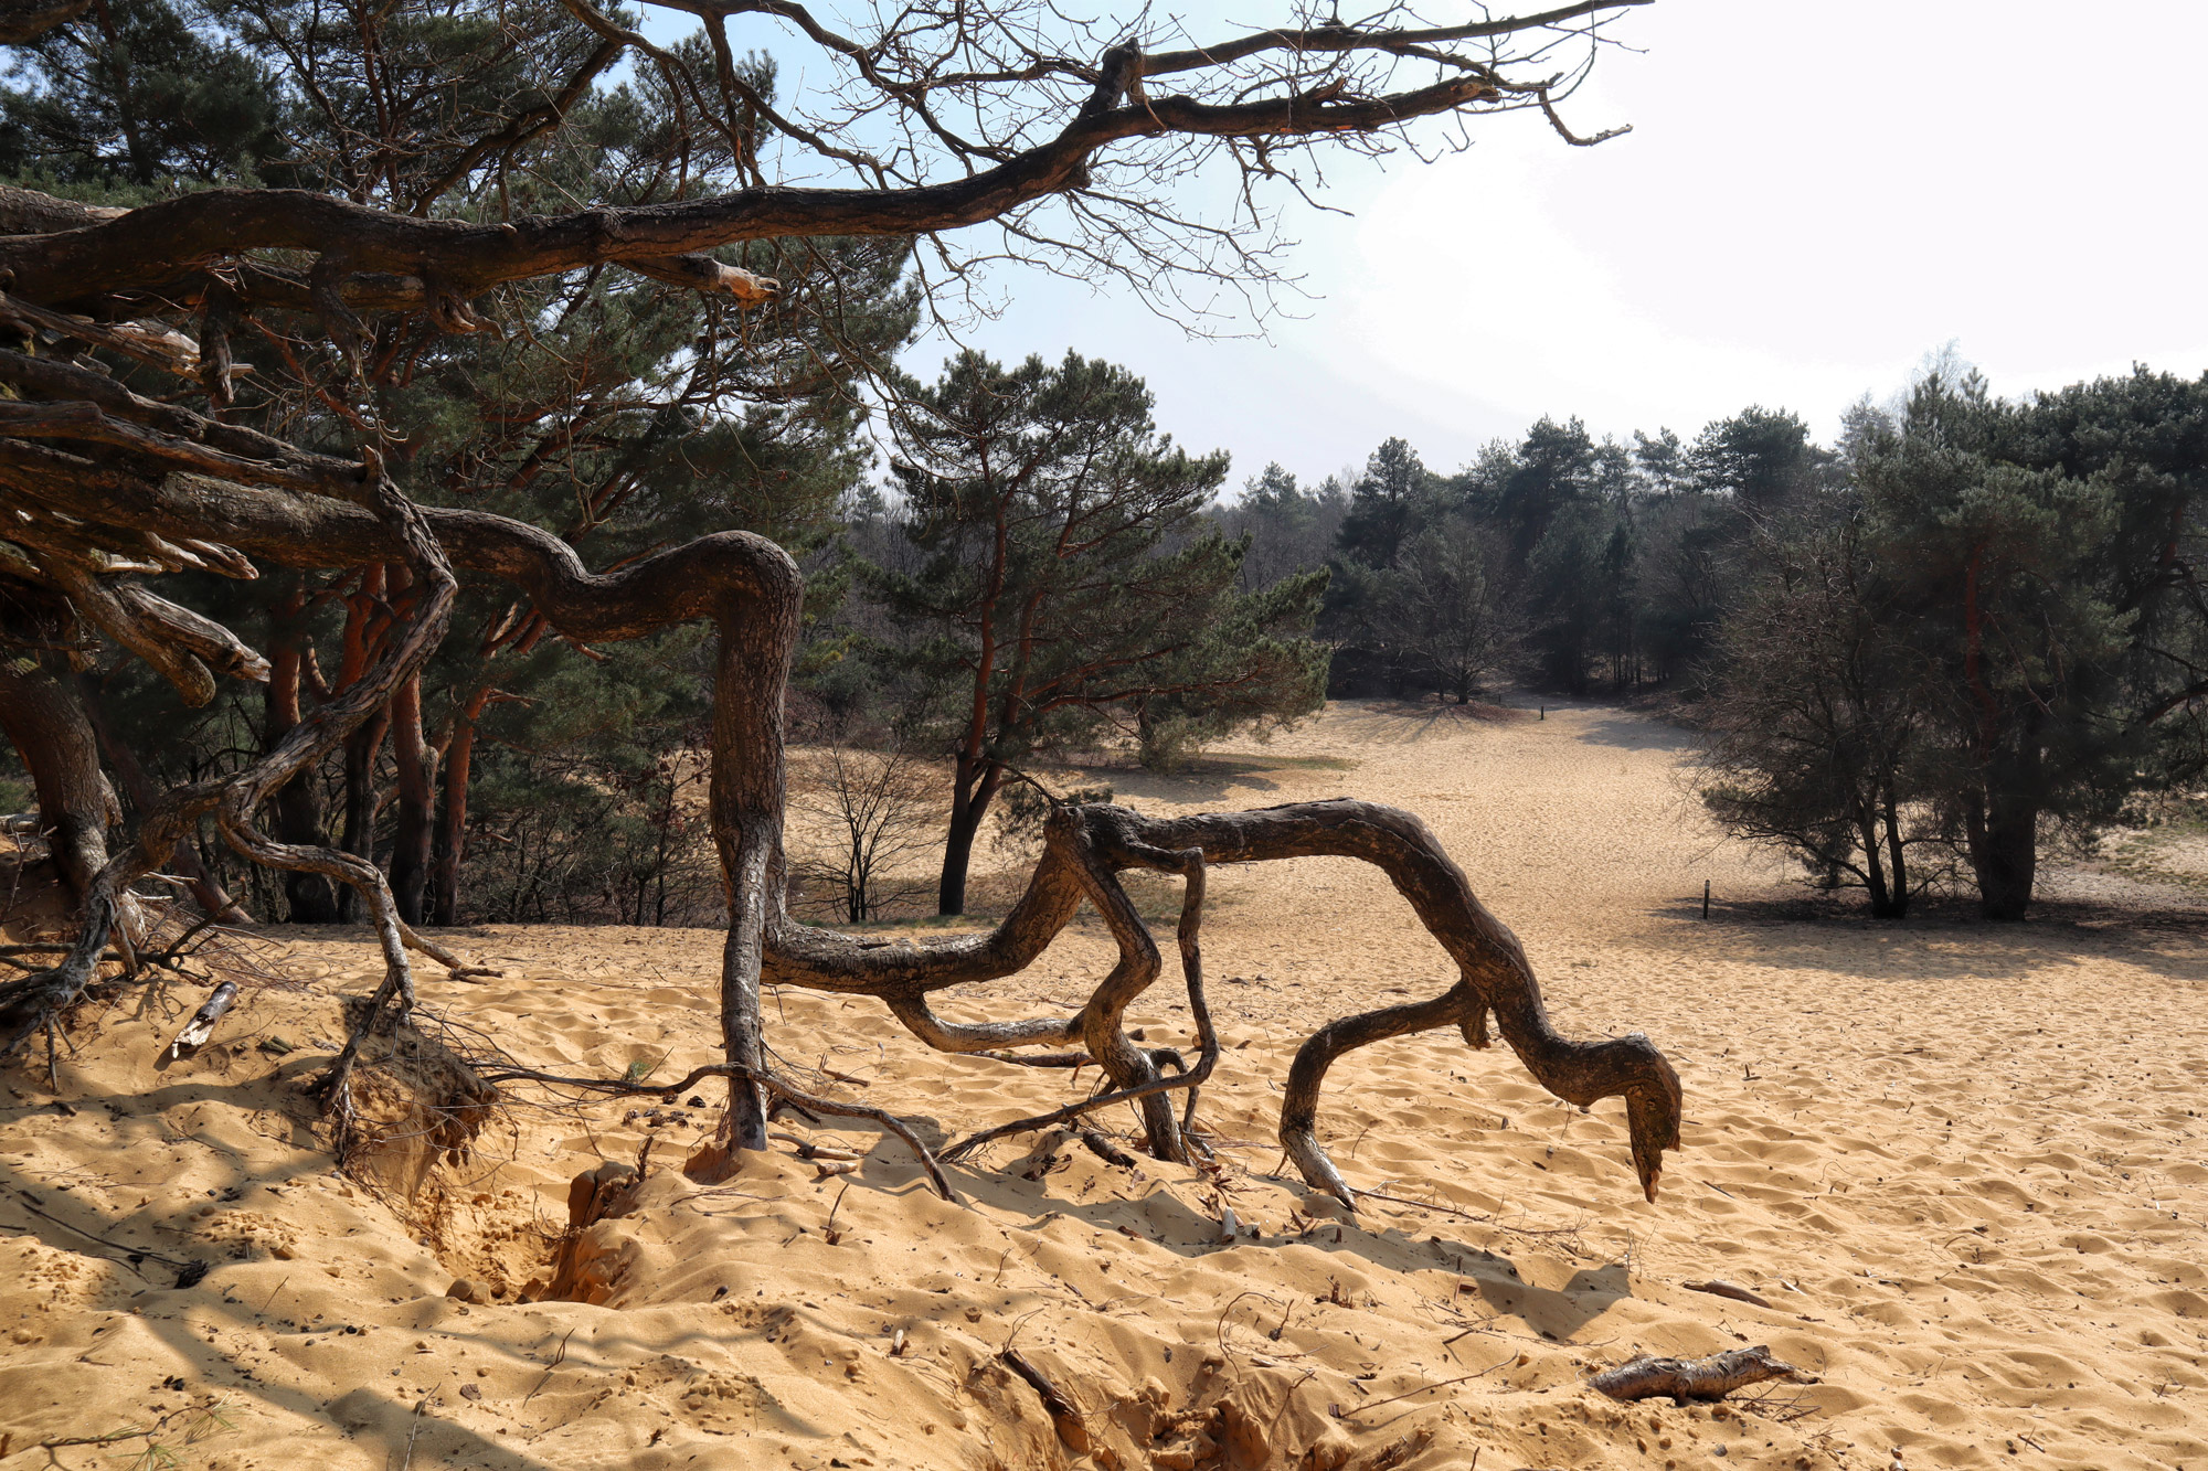
M 678 51 L 771 106 L 768 57 L 704 46 Z M 121 205 L 285 183 L 501 219 L 751 179 L 753 135 L 678 126 L 671 73 L 616 77 L 601 53 L 554 4 L 108 0 L 13 53 L 0 183 Z M 495 188 L 455 194 L 486 148 Z M 1720 822 L 1879 914 L 1950 881 L 2023 914 L 2047 842 L 2193 780 L 2208 749 L 2201 382 L 2000 402 L 1950 369 L 1857 406 L 1830 446 L 1766 409 L 1691 442 L 1541 420 L 1453 473 L 1389 440 L 1362 473 L 1267 466 L 1223 495 L 1225 457 L 1161 435 L 1122 367 L 958 353 L 903 373 L 910 241 L 751 245 L 742 265 L 782 283 L 742 322 L 585 269 L 499 287 L 497 329 L 360 349 L 386 468 L 422 504 L 530 521 L 594 568 L 726 528 L 799 554 L 793 733 L 819 760 L 797 766 L 797 883 L 821 914 L 910 903 L 919 864 L 960 912 L 991 824 L 1018 842 L 1040 819 L 1033 766 L 1100 747 L 1172 766 L 1329 691 L 1663 691 L 1707 733 Z M 225 340 L 221 320 L 225 420 L 342 451 L 358 409 L 261 387 L 311 382 L 325 345 L 261 320 Z M 373 667 L 411 599 L 404 563 L 216 572 L 166 588 L 261 629 L 269 669 L 197 709 L 113 647 L 11 634 L 9 658 L 84 705 L 117 811 L 254 762 Z M 464 579 L 431 665 L 265 824 L 373 857 L 422 923 L 711 923 L 709 680 L 698 629 L 570 645 Z M 353 917 L 327 879 L 212 835 L 177 872 L 214 912 Z

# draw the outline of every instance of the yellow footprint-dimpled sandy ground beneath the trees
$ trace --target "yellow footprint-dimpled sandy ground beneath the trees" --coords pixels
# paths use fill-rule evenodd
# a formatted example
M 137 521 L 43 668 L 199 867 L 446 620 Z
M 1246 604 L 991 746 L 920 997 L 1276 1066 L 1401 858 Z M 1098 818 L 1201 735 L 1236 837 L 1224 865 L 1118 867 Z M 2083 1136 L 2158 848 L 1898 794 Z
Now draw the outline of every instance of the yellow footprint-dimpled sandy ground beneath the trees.
M 2016 928 L 1837 917 L 1713 844 L 1682 760 L 1616 709 L 1349 705 L 1117 782 L 1144 811 L 1351 793 L 1424 815 L 1563 1029 L 1645 1029 L 1678 1065 L 1687 1149 L 1656 1204 L 1616 1100 L 1581 1115 L 1455 1034 L 1329 1078 L 1323 1137 L 1395 1199 L 1345 1221 L 1276 1173 L 1298 1040 L 1448 978 L 1387 881 L 1338 859 L 1212 879 L 1221 1171 L 1013 1142 L 954 1171 L 960 1204 L 896 1140 L 804 1124 L 863 1164 L 817 1179 L 777 1144 L 698 1188 L 662 1166 L 711 1111 L 658 1098 L 517 1107 L 411 1197 L 422 1149 L 338 1175 L 298 1080 L 375 963 L 358 934 L 289 932 L 294 990 L 250 994 L 197 1060 L 152 1067 L 199 1001 L 181 992 L 86 1027 L 60 1102 L 42 1056 L 0 1078 L 0 1467 L 2208 1471 L 2193 890 L 2082 872 Z M 457 939 L 503 976 L 431 978 L 428 1007 L 534 1065 L 671 1078 L 711 1056 L 718 934 Z M 1108 956 L 1082 923 L 945 1009 L 1049 1009 Z M 1170 992 L 1135 1012 L 1150 1043 L 1186 1034 Z M 927 1054 L 866 1001 L 784 994 L 771 1023 L 788 1065 L 930 1140 L 1069 1096 L 1064 1073 Z M 607 1301 L 523 1301 L 570 1179 L 647 1135 L 640 1210 L 583 1250 Z M 181 1261 L 212 1270 L 174 1288 Z M 461 1277 L 484 1301 L 446 1294 Z M 1769 1308 L 1685 1285 L 1711 1277 Z M 1636 1352 L 1749 1343 L 1819 1383 L 1718 1409 L 1583 1385 Z M 1073 1416 L 1053 1427 L 1007 1345 Z M 119 1438 L 38 1444 L 91 1436 Z

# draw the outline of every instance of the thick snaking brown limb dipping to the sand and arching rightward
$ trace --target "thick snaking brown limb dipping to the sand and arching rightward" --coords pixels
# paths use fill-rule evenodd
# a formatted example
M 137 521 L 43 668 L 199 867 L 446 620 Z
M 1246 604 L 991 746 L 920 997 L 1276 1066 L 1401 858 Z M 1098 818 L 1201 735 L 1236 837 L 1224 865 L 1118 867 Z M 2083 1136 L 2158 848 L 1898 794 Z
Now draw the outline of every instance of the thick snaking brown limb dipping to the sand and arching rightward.
M 108 473 L 91 484 L 82 475 L 55 475 L 46 486 L 42 495 L 53 501 L 97 508 L 93 515 L 110 523 L 159 530 L 188 517 L 203 537 L 219 535 L 230 546 L 294 565 L 364 565 L 400 554 L 386 517 L 327 497 L 289 497 L 192 475 L 148 481 Z M 722 948 L 722 1045 L 740 1069 L 731 1076 L 724 1144 L 764 1144 L 762 1096 L 746 1080 L 766 1071 L 762 978 L 879 996 L 938 1049 L 974 1054 L 1082 1043 L 1111 1076 L 1113 1096 L 1172 1089 L 1177 1080 L 1157 1078 L 1155 1062 L 1122 1029 L 1126 1007 L 1157 978 L 1159 959 L 1133 906 L 1113 895 L 1111 875 L 1126 868 L 1181 872 L 1177 855 L 1190 853 L 1210 866 L 1334 855 L 1380 866 L 1459 974 L 1426 1003 L 1342 1018 L 1305 1043 L 1281 1111 L 1281 1142 L 1305 1179 L 1354 1199 L 1316 1137 L 1318 1089 L 1338 1056 L 1444 1025 L 1455 1025 L 1477 1047 L 1486 1043 L 1493 1014 L 1519 1060 L 1559 1098 L 1577 1104 L 1625 1098 L 1634 1168 L 1654 1199 L 1663 1151 L 1678 1149 L 1678 1076 L 1638 1034 L 1601 1043 L 1559 1034 L 1517 936 L 1473 897 L 1464 872 L 1411 813 L 1351 800 L 1170 819 L 1117 806 L 1062 808 L 1049 824 L 1051 842 L 1027 892 L 989 934 L 925 948 L 868 948 L 852 936 L 808 930 L 784 912 L 782 689 L 802 596 L 788 554 L 762 537 L 720 532 L 596 576 L 572 548 L 537 528 L 470 510 L 422 508 L 420 517 L 453 563 L 514 583 L 570 638 L 636 638 L 687 618 L 709 618 L 720 634 L 709 811 L 731 901 Z M 1122 954 L 1080 1014 L 960 1025 L 930 1012 L 927 996 L 936 990 L 1029 965 L 1084 897 L 1102 899 L 1097 910 Z M 1170 1109 L 1146 1107 L 1146 1120 L 1153 1151 L 1177 1155 L 1181 1142 Z

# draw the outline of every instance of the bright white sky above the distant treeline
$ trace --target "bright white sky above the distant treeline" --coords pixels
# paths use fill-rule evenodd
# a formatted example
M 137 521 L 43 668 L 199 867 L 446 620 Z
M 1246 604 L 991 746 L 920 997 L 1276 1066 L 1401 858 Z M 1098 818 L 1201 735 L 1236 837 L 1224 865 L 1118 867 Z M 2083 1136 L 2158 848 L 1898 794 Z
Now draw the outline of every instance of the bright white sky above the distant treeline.
M 1197 2 L 1195 33 L 1272 18 Z M 1828 437 L 1950 342 L 2003 395 L 2208 369 L 2201 0 L 1658 0 L 1610 35 L 1630 49 L 1568 121 L 1630 135 L 1570 148 L 1508 115 L 1440 161 L 1331 170 L 1351 216 L 1287 216 L 1305 296 L 1261 336 L 1007 269 L 1009 309 L 960 340 L 1130 367 L 1236 484 L 1360 466 L 1389 435 L 1453 470 L 1543 413 L 1691 440 L 1762 404 Z

